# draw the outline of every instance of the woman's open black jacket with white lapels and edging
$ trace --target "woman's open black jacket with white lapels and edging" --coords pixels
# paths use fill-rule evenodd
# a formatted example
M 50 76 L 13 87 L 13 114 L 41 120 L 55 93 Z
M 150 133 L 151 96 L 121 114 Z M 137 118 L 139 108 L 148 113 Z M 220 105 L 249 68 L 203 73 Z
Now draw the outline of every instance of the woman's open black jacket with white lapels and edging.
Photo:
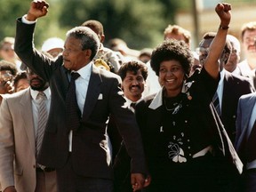
M 188 110 L 188 113 L 186 112 L 183 114 L 184 119 L 182 117 L 181 122 L 183 122 L 183 120 L 184 122 L 188 121 L 190 130 L 189 136 L 191 138 L 190 142 L 194 140 L 191 146 L 196 148 L 196 151 L 193 154 L 200 151 L 204 143 L 207 143 L 208 141 L 207 145 L 209 145 L 209 143 L 212 145 L 215 156 L 214 161 L 218 162 L 217 164 L 220 165 L 218 169 L 221 174 L 232 175 L 237 174 L 238 172 L 241 173 L 243 164 L 237 156 L 236 150 L 229 140 L 228 134 L 220 121 L 220 117 L 211 102 L 212 96 L 216 90 L 214 88 L 217 88 L 218 83 L 214 84 L 209 76 L 206 76 L 205 74 L 206 72 L 203 68 L 200 77 L 197 77 L 199 75 L 195 74 L 190 77 L 191 79 L 188 79 L 188 82 L 194 81 L 196 82 L 196 85 L 192 85 L 191 88 L 188 89 L 192 100 L 183 100 L 182 105 L 185 106 L 184 108 L 188 108 L 186 109 Z M 200 78 L 203 79 L 200 80 Z M 166 116 L 163 116 L 163 111 L 165 112 L 163 101 L 159 100 L 159 98 L 162 97 L 162 93 L 162 91 L 158 92 L 155 98 L 152 96 L 146 97 L 136 105 L 135 111 L 137 122 L 140 125 L 142 139 L 145 143 L 144 147 L 149 164 L 149 173 L 152 170 L 153 172 L 157 171 L 157 167 L 162 168 L 164 162 L 157 161 L 157 152 L 154 151 L 157 142 L 156 139 L 160 138 L 157 134 L 163 126 L 164 118 L 166 118 Z M 154 105 L 149 108 L 153 101 Z M 204 134 L 204 132 L 208 133 Z M 156 162 L 158 164 L 156 164 Z M 166 172 L 168 172 L 167 167 Z M 161 173 L 161 176 L 162 174 L 163 173 Z

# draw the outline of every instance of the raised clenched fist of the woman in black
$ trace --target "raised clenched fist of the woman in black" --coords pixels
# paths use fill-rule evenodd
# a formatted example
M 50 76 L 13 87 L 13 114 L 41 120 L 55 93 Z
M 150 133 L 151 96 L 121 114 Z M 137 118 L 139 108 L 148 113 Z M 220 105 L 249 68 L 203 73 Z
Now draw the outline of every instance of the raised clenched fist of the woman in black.
M 226 3 L 220 3 L 217 4 L 215 7 L 215 12 L 220 17 L 220 26 L 222 28 L 228 27 L 229 22 L 231 20 L 231 4 L 226 4 Z

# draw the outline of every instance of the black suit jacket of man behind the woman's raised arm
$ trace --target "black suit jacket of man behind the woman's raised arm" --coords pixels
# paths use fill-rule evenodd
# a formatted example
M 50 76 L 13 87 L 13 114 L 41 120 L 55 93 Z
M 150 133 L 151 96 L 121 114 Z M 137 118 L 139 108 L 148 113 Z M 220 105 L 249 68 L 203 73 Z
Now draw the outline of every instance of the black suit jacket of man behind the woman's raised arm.
M 220 118 L 228 132 L 230 140 L 234 143 L 236 139 L 236 110 L 238 100 L 242 95 L 254 92 L 254 89 L 248 78 L 232 75 L 228 71 L 225 71 L 223 84 Z

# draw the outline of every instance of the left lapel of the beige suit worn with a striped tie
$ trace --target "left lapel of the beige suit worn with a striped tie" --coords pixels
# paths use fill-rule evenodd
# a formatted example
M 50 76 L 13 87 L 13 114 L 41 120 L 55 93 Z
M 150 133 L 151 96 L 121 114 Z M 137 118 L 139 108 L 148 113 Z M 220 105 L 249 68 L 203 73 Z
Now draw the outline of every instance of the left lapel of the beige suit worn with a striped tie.
M 28 135 L 28 142 L 32 151 L 36 151 L 35 140 L 35 127 L 33 121 L 32 102 L 31 102 L 30 89 L 24 92 L 23 97 L 20 99 L 20 116 L 21 124 L 23 124 L 24 131 Z

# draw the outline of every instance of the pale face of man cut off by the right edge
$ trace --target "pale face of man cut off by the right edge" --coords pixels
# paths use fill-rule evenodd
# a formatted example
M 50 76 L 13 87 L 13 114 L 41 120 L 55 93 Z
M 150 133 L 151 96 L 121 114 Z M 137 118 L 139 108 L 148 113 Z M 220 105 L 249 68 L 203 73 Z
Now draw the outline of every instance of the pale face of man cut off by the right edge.
M 256 57 L 256 30 L 246 30 L 243 36 L 243 47 L 246 57 Z

